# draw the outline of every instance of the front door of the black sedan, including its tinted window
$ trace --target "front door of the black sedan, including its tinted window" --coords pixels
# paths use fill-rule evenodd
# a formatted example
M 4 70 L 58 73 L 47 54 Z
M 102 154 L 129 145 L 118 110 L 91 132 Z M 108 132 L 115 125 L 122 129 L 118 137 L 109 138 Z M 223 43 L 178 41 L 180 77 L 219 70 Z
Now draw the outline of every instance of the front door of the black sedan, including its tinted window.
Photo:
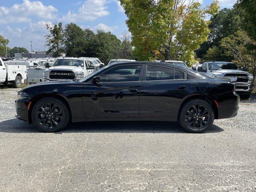
M 85 118 L 140 117 L 142 65 L 113 66 L 83 90 Z

